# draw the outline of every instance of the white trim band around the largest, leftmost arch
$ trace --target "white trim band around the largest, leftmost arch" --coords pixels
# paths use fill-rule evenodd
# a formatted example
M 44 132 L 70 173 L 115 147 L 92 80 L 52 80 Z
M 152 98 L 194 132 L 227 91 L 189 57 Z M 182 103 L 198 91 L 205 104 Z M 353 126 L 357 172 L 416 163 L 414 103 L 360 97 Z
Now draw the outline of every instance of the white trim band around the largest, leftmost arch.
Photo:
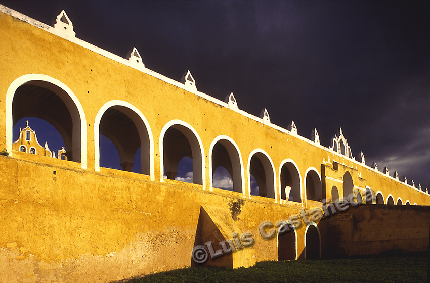
M 29 81 L 45 81 L 52 83 L 61 89 L 63 89 L 67 95 L 72 99 L 79 113 L 80 118 L 80 151 L 81 151 L 81 168 L 87 169 L 87 118 L 83 112 L 82 105 L 73 93 L 73 91 L 61 81 L 42 74 L 27 74 L 20 76 L 15 79 L 8 88 L 6 93 L 6 150 L 12 154 L 12 131 L 13 131 L 13 119 L 12 119 L 12 102 L 14 100 L 15 92 L 21 85 Z

